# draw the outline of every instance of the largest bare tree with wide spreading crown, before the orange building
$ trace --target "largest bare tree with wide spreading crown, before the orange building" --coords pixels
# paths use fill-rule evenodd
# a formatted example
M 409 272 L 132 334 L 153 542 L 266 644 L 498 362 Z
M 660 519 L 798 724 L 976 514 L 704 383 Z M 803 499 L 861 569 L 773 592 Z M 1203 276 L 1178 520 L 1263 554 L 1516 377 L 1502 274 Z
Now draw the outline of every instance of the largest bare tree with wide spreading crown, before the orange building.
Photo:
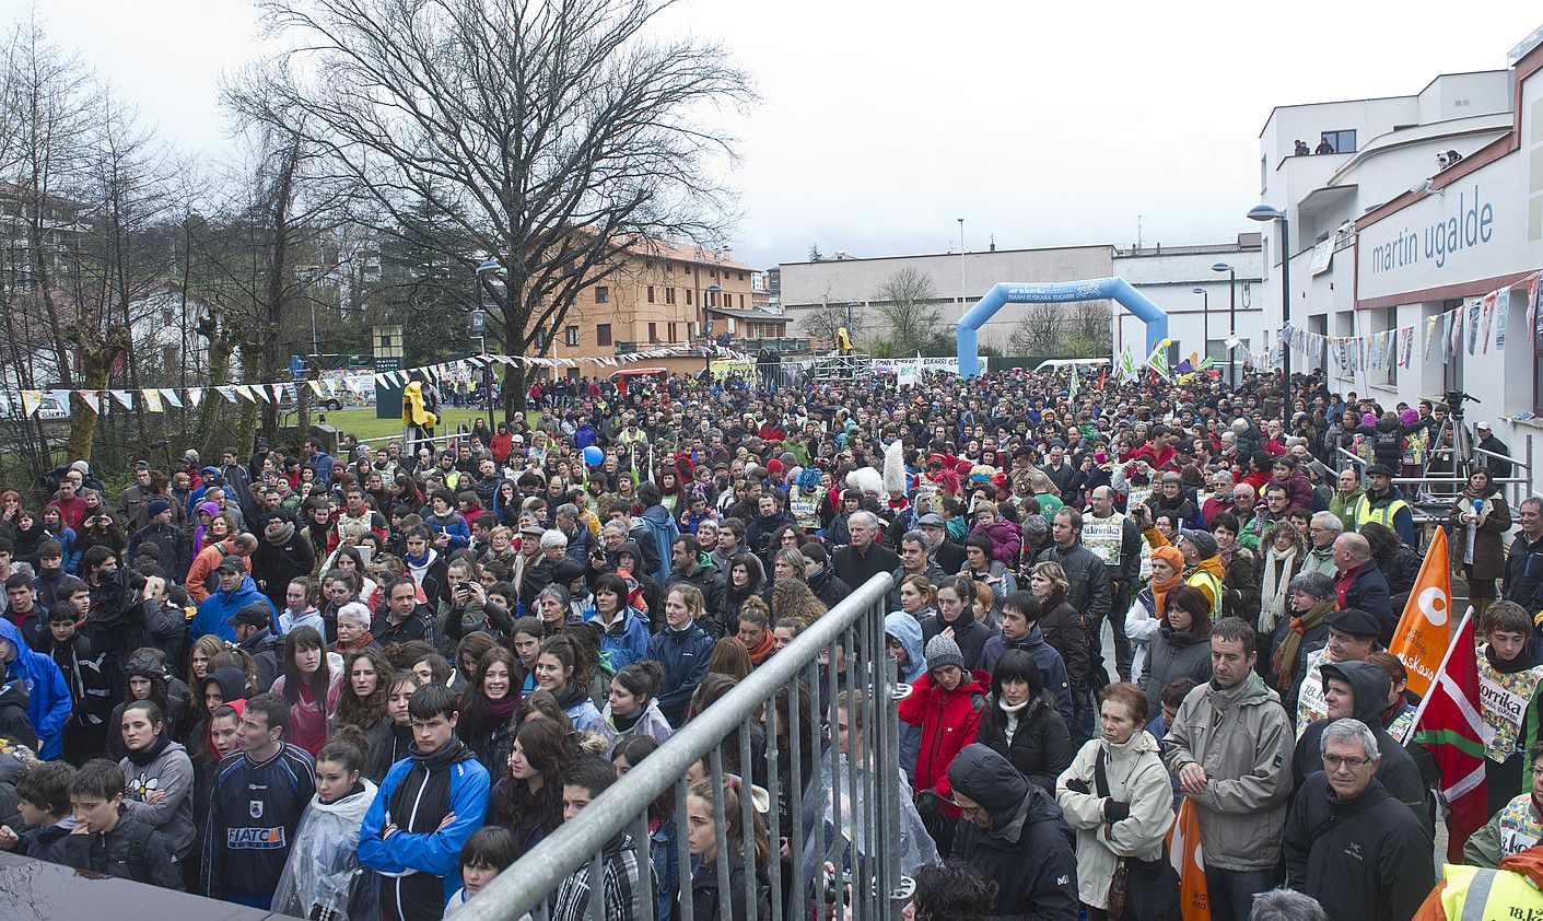
M 721 238 L 708 176 L 730 142 L 702 122 L 751 99 L 716 45 L 650 39 L 671 0 L 264 0 L 298 51 L 227 91 L 248 120 L 316 143 L 395 233 L 427 207 L 481 275 L 489 330 L 539 353 L 585 287 L 648 238 Z M 505 369 L 505 412 L 525 369 Z

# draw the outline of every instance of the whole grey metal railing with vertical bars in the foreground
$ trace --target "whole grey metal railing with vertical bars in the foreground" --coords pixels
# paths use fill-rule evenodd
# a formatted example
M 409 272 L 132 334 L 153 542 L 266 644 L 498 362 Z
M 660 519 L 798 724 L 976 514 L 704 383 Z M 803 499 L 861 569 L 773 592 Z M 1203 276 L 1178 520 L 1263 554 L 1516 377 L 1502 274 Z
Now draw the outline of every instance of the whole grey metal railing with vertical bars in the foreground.
M 909 798 L 900 771 L 900 741 L 895 702 L 909 687 L 896 687 L 896 663 L 886 656 L 884 594 L 890 577 L 880 574 L 863 583 L 827 614 L 816 619 L 788 646 L 762 662 L 724 697 L 687 720 L 668 742 L 640 759 L 611 788 L 572 821 L 563 822 L 529 853 L 457 910 L 458 921 L 514 921 L 529 915 L 549 916 L 549 896 L 579 867 L 589 867 L 588 918 L 608 918 L 603 907 L 603 848 L 630 833 L 637 847 L 639 886 L 659 893 L 657 869 L 650 855 L 650 808 L 674 791 L 679 901 L 676 921 L 691 918 L 693 859 L 688 848 L 687 771 L 705 759 L 705 778 L 714 790 L 725 788 L 725 750 L 736 745 L 738 762 L 751 776 L 762 773 L 770 793 L 765 824 L 772 858 L 756 862 L 755 841 L 742 835 L 739 853 L 730 853 L 724 799 L 714 796 L 711 822 L 716 841 L 716 879 L 721 918 L 734 918 L 731 902 L 744 898 L 744 915 L 807 919 L 812 910 L 830 907 L 841 918 L 850 910 L 858 919 L 895 919 L 909 879 L 901 867 L 901 796 Z M 876 653 L 876 659 L 875 659 Z M 826 662 L 821 662 L 821 656 Z M 807 685 L 801 682 L 807 679 Z M 838 742 L 838 699 L 859 693 L 861 703 L 847 714 L 844 742 Z M 801 716 L 810 699 L 813 713 Z M 755 759 L 751 724 L 765 720 L 765 756 Z M 779 727 L 779 720 L 788 724 Z M 827 731 L 829 730 L 829 731 Z M 805 754 L 813 753 L 813 754 Z M 784 757 L 785 756 L 785 757 Z M 731 754 L 728 756 L 731 757 Z M 856 765 L 856 770 L 852 765 Z M 747 779 L 748 781 L 748 779 Z M 784 787 L 785 784 L 785 787 Z M 745 785 L 741 785 L 745 790 Z M 784 793 L 788 822 L 779 808 Z M 741 796 L 739 828 L 751 828 L 753 796 Z M 790 825 L 790 827 L 787 827 Z M 779 841 L 788 859 L 779 856 Z M 731 892 L 730 864 L 744 870 L 744 893 Z M 827 873 L 827 867 L 833 872 Z M 759 870 L 759 872 L 758 872 Z M 768 886 L 761 881 L 768 879 Z M 784 896 L 784 884 L 788 886 Z M 835 901 L 830 906 L 830 901 Z M 637 921 L 654 921 L 656 898 L 642 899 Z M 821 915 L 824 916 L 824 915 Z

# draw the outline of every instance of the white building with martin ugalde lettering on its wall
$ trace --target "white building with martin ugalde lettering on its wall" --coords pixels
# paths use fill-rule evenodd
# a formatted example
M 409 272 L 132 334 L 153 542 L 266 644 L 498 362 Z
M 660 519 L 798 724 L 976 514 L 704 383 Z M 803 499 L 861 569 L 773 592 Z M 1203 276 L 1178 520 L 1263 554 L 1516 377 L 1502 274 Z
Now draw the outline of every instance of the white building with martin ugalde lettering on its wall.
M 1290 324 L 1307 333 L 1293 370 L 1325 366 L 1332 389 L 1386 406 L 1466 390 L 1481 400 L 1469 421 L 1491 420 L 1514 457 L 1543 434 L 1543 336 L 1526 329 L 1526 279 L 1543 268 L 1540 42 L 1543 29 L 1511 66 L 1443 74 L 1413 96 L 1281 106 L 1259 134 L 1261 201 L 1290 222 Z M 1296 140 L 1335 153 L 1298 154 Z M 1279 330 L 1282 233 L 1261 228 L 1256 299 Z M 1454 352 L 1443 316 L 1491 292 L 1504 292 L 1500 315 Z M 1378 359 L 1389 339 L 1396 359 Z

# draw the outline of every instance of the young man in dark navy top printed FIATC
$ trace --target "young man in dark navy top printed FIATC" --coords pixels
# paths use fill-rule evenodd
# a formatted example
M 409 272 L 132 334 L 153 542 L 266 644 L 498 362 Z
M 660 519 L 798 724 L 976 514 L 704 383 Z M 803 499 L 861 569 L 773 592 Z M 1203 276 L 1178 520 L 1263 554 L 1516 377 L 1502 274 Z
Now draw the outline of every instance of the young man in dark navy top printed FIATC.
M 267 909 L 295 830 L 316 793 L 316 764 L 282 742 L 290 705 L 279 694 L 247 700 L 239 748 L 219 762 L 204 825 L 201 890 L 208 898 Z

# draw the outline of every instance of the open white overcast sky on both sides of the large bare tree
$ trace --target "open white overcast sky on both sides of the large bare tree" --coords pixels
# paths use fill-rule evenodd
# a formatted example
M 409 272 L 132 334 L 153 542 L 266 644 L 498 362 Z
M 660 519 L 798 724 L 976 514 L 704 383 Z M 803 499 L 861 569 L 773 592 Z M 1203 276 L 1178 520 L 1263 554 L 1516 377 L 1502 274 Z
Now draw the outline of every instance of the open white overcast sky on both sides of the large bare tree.
M 39 0 L 52 39 L 185 150 L 230 156 L 219 79 L 247 0 Z M 0 0 L 3 19 L 20 0 Z M 1288 19 L 1282 19 L 1288 17 Z M 761 103 L 725 119 L 738 261 L 1230 241 L 1276 105 L 1418 93 L 1506 66 L 1543 9 L 1501 3 L 687 0 Z

